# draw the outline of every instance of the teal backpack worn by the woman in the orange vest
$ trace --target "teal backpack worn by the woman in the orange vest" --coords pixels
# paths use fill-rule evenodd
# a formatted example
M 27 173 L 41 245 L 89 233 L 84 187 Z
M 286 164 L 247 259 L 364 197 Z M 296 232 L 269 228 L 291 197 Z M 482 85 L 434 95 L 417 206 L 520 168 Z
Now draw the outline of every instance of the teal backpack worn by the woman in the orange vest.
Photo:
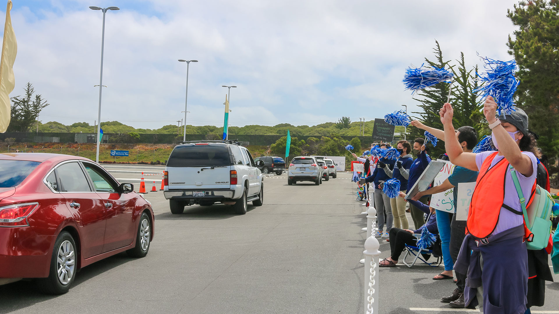
M 513 177 L 514 187 L 517 189 L 518 198 L 520 198 L 524 222 L 531 233 L 526 239 L 528 250 L 544 249 L 547 247 L 549 235 L 551 235 L 551 210 L 555 202 L 546 189 L 536 184 L 532 202 L 526 208 L 526 199 L 522 193 L 522 188 L 520 188 L 517 172 L 511 165 L 509 165 L 509 169 Z

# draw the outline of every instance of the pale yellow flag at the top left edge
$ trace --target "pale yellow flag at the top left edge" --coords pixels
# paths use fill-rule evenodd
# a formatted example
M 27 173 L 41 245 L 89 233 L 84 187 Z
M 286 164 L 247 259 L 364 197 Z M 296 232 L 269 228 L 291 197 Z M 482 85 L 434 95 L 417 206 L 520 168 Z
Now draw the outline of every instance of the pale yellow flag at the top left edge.
M 6 24 L 4 25 L 4 41 L 2 43 L 2 60 L 0 60 L 0 132 L 6 132 L 10 125 L 11 108 L 10 93 L 16 84 L 13 77 L 13 63 L 16 61 L 17 42 L 13 32 L 10 11 L 12 2 L 8 0 L 6 7 Z

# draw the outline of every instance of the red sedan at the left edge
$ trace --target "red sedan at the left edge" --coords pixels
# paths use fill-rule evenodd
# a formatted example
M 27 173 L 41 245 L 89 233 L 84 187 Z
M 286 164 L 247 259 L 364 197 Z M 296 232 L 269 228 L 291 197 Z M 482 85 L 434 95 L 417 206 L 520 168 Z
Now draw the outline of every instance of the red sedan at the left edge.
M 144 257 L 151 204 L 87 158 L 0 154 L 0 284 L 36 278 L 68 291 L 77 270 L 126 251 Z

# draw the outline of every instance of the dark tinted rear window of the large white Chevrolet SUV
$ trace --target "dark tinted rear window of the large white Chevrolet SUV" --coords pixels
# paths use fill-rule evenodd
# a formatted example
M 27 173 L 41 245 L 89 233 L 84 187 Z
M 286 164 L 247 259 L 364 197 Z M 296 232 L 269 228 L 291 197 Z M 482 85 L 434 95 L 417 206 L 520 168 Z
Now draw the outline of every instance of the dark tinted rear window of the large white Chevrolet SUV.
M 169 156 L 169 167 L 228 166 L 229 151 L 226 145 L 187 145 L 173 149 Z

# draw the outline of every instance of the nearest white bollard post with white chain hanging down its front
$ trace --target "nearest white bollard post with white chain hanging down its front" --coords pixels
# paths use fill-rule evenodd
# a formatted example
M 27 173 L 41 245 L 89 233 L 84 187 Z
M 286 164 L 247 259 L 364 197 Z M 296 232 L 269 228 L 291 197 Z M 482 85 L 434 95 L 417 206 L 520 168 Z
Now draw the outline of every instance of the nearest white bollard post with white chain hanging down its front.
M 380 244 L 374 236 L 365 241 L 364 313 L 378 314 L 378 250 Z

